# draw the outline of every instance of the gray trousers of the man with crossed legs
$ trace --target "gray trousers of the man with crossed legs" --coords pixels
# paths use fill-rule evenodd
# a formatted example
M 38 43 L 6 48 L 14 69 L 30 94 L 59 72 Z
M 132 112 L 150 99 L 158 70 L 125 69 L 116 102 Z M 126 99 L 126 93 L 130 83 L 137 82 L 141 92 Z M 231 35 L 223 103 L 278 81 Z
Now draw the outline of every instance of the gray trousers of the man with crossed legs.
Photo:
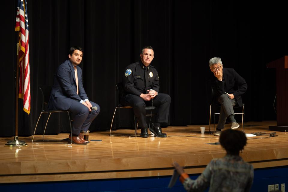
M 237 101 L 236 99 L 230 99 L 229 95 L 224 93 L 218 97 L 218 102 L 221 104 L 221 109 L 217 128 L 224 129 L 227 117 L 234 115 L 233 106 L 237 104 Z

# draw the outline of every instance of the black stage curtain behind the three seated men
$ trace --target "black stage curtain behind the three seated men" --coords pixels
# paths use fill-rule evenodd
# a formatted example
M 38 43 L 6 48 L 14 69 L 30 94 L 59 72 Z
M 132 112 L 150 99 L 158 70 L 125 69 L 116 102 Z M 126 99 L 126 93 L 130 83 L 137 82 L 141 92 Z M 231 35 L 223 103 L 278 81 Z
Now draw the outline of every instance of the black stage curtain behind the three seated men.
M 208 123 L 206 79 L 215 56 L 246 79 L 245 120 L 275 120 L 276 75 L 265 64 L 288 55 L 285 7 L 247 1 L 28 0 L 31 113 L 22 111 L 19 100 L 19 135 L 33 134 L 41 108 L 38 86 L 53 84 L 72 45 L 84 49 L 84 87 L 101 106 L 91 131 L 110 128 L 115 83 L 146 45 L 155 49 L 160 90 L 172 98 L 170 125 Z M 16 0 L 2 2 L 2 16 L 1 137 L 15 134 Z M 68 131 L 66 117 L 60 117 L 51 117 L 48 133 Z

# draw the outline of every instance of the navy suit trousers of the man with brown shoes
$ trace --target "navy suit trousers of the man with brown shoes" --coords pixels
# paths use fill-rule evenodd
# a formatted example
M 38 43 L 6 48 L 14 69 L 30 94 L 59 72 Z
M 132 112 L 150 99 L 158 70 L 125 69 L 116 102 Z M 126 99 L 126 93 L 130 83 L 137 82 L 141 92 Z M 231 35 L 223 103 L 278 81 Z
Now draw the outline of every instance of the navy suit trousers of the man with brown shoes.
M 72 123 L 72 133 L 79 135 L 82 131 L 87 131 L 95 119 L 96 116 L 100 113 L 100 107 L 98 104 L 90 101 L 92 107 L 97 107 L 97 110 L 91 110 L 81 104 L 78 101 L 72 101 L 71 107 L 68 109 L 73 114 L 73 123 Z

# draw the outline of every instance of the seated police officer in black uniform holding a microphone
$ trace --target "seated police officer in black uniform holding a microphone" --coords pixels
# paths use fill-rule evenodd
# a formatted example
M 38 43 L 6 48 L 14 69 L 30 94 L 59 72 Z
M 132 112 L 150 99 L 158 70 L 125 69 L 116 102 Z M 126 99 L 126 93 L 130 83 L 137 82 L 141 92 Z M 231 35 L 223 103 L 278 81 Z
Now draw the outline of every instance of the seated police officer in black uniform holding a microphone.
M 171 98 L 169 95 L 159 93 L 159 76 L 154 66 L 150 65 L 154 58 L 154 50 L 151 46 L 145 46 L 140 54 L 140 61 L 126 67 L 122 83 L 125 89 L 125 97 L 121 103 L 131 106 L 141 127 L 140 137 L 149 137 L 146 123 L 146 105 L 156 106 L 158 113 L 155 122 L 149 131 L 156 137 L 167 137 L 162 133 L 160 123 L 168 122 Z M 152 89 L 152 91 L 149 91 Z

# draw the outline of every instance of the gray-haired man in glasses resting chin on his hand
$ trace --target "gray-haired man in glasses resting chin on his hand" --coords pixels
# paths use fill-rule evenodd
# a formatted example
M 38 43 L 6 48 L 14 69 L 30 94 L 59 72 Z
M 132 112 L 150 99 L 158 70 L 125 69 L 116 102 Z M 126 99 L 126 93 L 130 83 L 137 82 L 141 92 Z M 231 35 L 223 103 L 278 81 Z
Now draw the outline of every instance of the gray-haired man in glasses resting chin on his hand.
M 247 83 L 234 69 L 223 68 L 219 57 L 211 58 L 209 67 L 213 73 L 209 79 L 213 89 L 213 102 L 221 105 L 219 121 L 215 131 L 215 136 L 220 136 L 227 117 L 231 120 L 231 129 L 239 127 L 234 118 L 233 106 L 236 104 L 242 106 L 242 95 L 247 90 Z

